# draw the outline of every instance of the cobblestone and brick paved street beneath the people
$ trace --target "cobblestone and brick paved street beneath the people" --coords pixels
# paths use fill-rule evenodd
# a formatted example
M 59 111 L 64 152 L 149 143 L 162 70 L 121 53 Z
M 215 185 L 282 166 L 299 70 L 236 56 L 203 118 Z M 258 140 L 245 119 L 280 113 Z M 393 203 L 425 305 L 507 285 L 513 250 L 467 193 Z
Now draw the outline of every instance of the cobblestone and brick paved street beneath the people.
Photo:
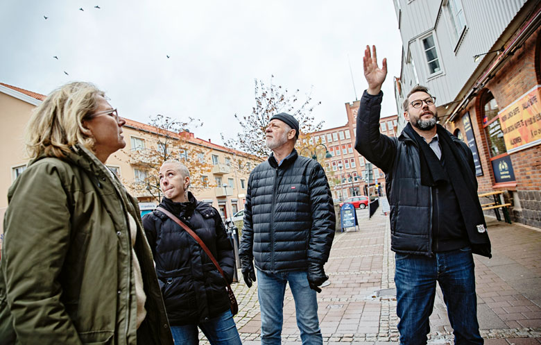
M 325 271 L 330 285 L 318 294 L 324 344 L 398 344 L 395 260 L 388 216 L 368 220 L 358 210 L 360 230 L 336 233 Z M 492 259 L 474 255 L 481 335 L 488 345 L 541 344 L 541 232 L 487 217 Z M 239 278 L 241 274 L 239 271 Z M 233 284 L 239 301 L 234 318 L 243 344 L 260 343 L 257 282 Z M 429 344 L 452 344 L 452 328 L 440 289 L 430 317 Z M 205 337 L 200 344 L 208 344 Z M 289 289 L 284 299 L 282 344 L 301 344 Z

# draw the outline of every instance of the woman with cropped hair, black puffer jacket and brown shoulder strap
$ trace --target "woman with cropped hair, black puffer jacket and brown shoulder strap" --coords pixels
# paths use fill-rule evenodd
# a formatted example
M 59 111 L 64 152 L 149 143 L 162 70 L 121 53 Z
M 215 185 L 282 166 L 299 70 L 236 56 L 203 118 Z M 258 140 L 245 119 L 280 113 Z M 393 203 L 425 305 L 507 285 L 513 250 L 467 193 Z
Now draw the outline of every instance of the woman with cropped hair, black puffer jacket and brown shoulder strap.
M 189 171 L 182 163 L 164 162 L 160 168 L 164 193 L 160 206 L 194 230 L 231 283 L 234 255 L 220 214 L 212 205 L 197 201 L 187 192 L 189 181 Z M 210 344 L 241 344 L 225 280 L 207 253 L 189 233 L 158 210 L 146 214 L 143 225 L 175 344 L 198 344 L 198 327 Z

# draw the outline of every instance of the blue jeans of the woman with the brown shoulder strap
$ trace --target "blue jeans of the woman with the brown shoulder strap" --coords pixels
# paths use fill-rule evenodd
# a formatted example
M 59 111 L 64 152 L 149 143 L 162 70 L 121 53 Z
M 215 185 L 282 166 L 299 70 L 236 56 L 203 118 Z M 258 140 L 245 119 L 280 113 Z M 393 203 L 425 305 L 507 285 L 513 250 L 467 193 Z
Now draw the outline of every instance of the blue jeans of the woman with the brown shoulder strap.
M 218 317 L 207 322 L 183 326 L 171 326 L 175 344 L 197 345 L 199 344 L 197 326 L 201 328 L 209 343 L 212 345 L 242 345 L 241 337 L 231 310 L 227 310 Z

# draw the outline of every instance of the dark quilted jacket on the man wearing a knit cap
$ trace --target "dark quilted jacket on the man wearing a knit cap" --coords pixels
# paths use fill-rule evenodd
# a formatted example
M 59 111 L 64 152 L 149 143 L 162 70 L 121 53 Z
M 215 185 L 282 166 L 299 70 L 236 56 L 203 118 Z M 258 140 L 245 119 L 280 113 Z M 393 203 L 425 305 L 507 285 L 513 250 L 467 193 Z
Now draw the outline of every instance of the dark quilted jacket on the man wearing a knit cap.
M 293 150 L 278 167 L 271 154 L 250 173 L 239 252 L 257 269 L 275 273 L 325 264 L 334 225 L 331 191 L 316 160 Z

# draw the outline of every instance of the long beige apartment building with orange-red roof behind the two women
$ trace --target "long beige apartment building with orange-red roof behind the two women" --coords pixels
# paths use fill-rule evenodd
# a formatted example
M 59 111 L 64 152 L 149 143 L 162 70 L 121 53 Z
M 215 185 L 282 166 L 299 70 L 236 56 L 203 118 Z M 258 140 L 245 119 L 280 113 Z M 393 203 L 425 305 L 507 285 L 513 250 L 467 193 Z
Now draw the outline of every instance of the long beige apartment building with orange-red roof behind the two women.
M 6 197 L 8 188 L 26 169 L 28 162 L 24 152 L 24 127 L 31 117 L 33 108 L 38 106 L 44 98 L 42 94 L 0 83 L 0 117 L 4 124 L 0 128 L 0 140 L 3 146 L 0 153 L 3 163 L 3 168 L 0 169 L 1 218 L 8 205 Z M 141 165 L 141 162 L 131 153 L 155 148 L 156 128 L 126 119 L 123 135 L 126 147 L 111 155 L 107 166 L 121 178 L 130 194 L 137 197 L 141 210 L 150 212 L 157 204 L 155 194 L 139 187 L 139 185 L 144 185 L 145 180 L 150 177 L 148 169 L 145 169 L 145 165 Z M 200 183 L 192 184 L 198 185 L 191 190 L 198 200 L 211 203 L 223 217 L 230 217 L 237 211 L 243 210 L 248 174 L 260 160 L 241 151 L 214 144 L 211 140 L 199 139 L 194 133 L 167 132 L 160 135 L 168 135 L 171 140 L 184 140 L 189 147 L 200 152 L 197 159 L 205 160 L 205 171 L 200 171 L 196 175 L 200 178 Z M 178 159 L 187 159 L 187 155 L 181 153 Z

